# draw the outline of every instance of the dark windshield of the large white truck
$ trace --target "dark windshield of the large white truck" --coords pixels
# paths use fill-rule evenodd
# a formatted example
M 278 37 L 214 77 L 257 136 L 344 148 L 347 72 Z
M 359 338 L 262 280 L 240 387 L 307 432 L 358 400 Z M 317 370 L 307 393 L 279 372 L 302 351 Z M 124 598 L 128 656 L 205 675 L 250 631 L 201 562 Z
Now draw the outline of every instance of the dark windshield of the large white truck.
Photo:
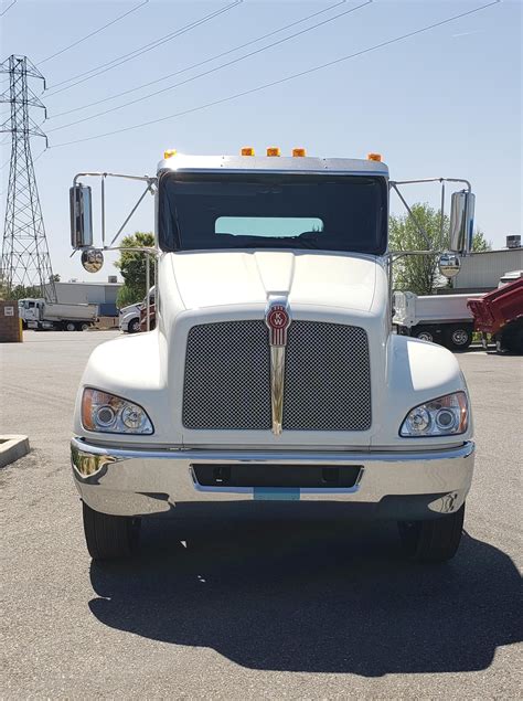
M 386 251 L 383 178 L 166 173 L 159 198 L 163 251 Z

